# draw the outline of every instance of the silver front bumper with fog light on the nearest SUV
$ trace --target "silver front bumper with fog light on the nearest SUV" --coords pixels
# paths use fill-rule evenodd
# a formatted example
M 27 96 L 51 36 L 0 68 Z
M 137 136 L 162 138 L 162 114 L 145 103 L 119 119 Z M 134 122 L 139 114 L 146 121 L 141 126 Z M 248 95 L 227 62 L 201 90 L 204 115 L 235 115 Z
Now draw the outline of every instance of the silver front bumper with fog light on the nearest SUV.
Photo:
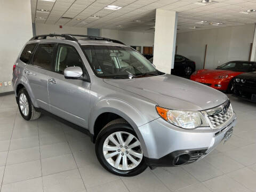
M 223 140 L 225 133 L 236 124 L 235 113 L 219 129 L 198 127 L 188 130 L 176 127 L 162 118 L 139 127 L 143 138 L 142 150 L 150 167 L 178 166 L 197 161 L 209 154 Z M 182 155 L 182 156 L 180 156 Z M 177 157 L 182 159 L 179 163 Z M 175 162 L 178 162 L 175 164 Z

